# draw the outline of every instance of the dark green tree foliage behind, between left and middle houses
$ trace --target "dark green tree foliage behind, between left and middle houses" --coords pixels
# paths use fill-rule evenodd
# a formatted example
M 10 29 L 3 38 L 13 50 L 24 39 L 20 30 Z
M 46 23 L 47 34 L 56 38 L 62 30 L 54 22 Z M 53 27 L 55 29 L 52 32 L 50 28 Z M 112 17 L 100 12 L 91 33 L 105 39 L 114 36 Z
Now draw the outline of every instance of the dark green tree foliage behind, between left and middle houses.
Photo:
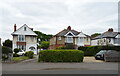
M 37 40 L 40 39 L 40 44 L 42 41 L 49 41 L 49 39 L 52 37 L 52 35 L 47 35 L 47 34 L 44 34 L 40 31 L 34 31 L 38 36 L 37 36 Z

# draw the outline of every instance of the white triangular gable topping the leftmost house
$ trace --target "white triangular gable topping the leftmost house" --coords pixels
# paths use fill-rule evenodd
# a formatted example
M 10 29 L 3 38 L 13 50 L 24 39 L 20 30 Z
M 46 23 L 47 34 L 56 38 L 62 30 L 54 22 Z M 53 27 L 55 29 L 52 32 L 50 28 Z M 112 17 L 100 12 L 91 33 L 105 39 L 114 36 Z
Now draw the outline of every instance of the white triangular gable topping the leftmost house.
M 26 31 L 24 31 L 24 27 L 26 27 Z M 15 32 L 13 32 L 11 35 L 32 35 L 32 36 L 37 36 L 37 34 L 34 33 L 26 24 L 21 26 L 19 29 L 17 29 Z

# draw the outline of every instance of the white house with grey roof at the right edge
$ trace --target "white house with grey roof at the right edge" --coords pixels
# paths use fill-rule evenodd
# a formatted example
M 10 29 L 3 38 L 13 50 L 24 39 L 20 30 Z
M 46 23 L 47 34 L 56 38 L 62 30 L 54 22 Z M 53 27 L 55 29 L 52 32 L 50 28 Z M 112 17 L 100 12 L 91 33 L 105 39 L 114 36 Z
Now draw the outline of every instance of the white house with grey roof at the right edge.
M 91 40 L 91 45 L 120 45 L 120 32 L 112 28 Z

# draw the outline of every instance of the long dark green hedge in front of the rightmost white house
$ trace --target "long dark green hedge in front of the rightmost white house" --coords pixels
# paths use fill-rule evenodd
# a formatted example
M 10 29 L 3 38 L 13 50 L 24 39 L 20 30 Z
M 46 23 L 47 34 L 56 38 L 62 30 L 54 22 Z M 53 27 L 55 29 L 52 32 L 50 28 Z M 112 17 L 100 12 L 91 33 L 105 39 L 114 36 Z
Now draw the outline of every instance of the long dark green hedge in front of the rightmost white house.
M 85 56 L 94 56 L 100 50 L 120 51 L 120 46 L 88 46 L 88 47 L 81 46 L 78 48 L 78 50 L 84 51 Z

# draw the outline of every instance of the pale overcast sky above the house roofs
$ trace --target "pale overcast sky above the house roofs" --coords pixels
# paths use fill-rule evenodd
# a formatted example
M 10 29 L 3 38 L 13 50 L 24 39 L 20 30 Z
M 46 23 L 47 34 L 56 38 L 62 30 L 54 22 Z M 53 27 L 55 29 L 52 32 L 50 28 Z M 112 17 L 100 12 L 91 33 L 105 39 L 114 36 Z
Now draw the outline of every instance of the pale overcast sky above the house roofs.
M 118 29 L 119 0 L 1 0 L 0 37 L 12 39 L 14 24 L 56 34 L 71 26 L 85 34 Z

